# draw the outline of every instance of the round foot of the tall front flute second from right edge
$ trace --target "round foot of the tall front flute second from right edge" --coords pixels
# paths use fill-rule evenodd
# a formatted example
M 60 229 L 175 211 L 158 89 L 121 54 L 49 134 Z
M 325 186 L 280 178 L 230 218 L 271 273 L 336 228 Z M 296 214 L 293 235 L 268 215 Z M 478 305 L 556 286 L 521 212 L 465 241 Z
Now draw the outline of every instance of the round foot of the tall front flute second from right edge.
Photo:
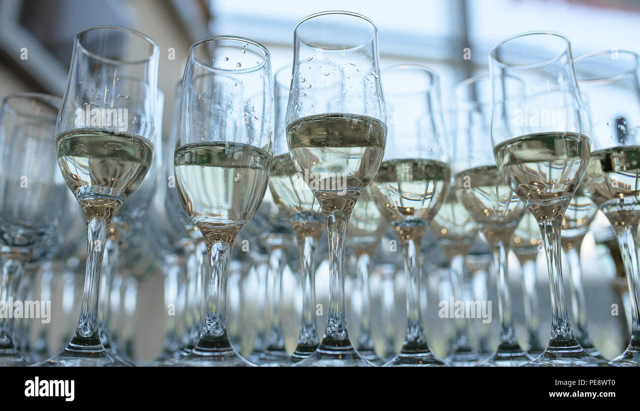
M 585 351 L 575 338 L 552 340 L 538 358 L 525 367 L 608 367 L 604 361 L 598 360 Z

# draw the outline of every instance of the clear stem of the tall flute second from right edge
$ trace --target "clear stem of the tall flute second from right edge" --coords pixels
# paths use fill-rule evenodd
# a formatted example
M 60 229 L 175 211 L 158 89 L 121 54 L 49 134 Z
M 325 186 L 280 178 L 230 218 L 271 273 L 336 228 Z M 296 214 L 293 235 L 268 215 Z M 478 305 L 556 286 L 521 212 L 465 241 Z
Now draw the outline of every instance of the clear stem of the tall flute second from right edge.
M 564 298 L 562 266 L 560 259 L 561 220 L 554 218 L 540 223 L 540 232 L 547 252 L 547 268 L 551 293 L 551 340 L 573 339 L 573 331 L 569 323 Z

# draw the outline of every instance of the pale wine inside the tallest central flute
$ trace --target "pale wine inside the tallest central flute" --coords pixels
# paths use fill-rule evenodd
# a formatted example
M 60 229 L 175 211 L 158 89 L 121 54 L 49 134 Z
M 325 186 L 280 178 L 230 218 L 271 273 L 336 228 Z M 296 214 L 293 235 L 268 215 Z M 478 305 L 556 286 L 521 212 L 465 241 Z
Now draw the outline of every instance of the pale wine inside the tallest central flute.
M 314 115 L 290 124 L 287 140 L 324 212 L 351 211 L 380 166 L 387 125 L 364 115 Z

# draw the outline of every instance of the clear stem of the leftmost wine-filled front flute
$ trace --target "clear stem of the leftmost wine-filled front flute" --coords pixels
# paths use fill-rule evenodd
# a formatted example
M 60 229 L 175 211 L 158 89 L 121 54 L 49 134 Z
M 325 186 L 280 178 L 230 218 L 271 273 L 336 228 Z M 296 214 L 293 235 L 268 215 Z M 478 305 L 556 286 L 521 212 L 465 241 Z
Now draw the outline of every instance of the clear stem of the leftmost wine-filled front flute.
M 98 296 L 100 289 L 100 271 L 106 246 L 107 220 L 95 217 L 87 224 L 87 259 L 84 273 L 84 294 L 80 310 L 80 321 L 72 344 L 98 346 L 100 334 L 98 328 Z

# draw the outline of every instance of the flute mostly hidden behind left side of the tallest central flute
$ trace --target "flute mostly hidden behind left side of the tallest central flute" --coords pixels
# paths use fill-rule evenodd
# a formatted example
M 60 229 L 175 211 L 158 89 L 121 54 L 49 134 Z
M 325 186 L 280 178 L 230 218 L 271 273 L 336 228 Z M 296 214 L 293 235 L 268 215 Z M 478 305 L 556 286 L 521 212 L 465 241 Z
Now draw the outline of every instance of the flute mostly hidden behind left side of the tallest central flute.
M 324 231 L 324 216 L 314 193 L 298 173 L 287 147 L 287 104 L 291 66 L 275 74 L 276 124 L 273 145 L 273 170 L 269 188 L 275 204 L 289 221 L 298 242 L 300 285 L 302 287 L 302 323 L 296 349 L 282 365 L 300 362 L 313 353 L 319 338 L 316 330 L 316 252 Z

